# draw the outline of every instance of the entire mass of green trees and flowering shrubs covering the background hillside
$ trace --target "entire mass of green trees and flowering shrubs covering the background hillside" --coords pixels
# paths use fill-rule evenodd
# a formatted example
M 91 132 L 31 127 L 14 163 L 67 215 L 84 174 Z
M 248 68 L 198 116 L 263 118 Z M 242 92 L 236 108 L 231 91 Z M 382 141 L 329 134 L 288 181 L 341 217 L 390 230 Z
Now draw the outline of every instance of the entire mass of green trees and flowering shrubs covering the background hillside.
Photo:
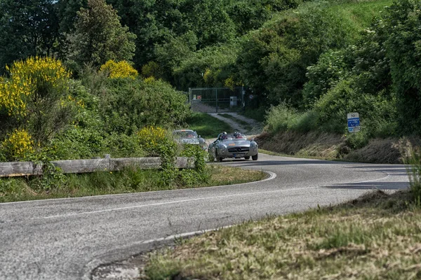
M 354 146 L 421 134 L 420 5 L 0 0 L 2 147 L 15 133 L 50 158 L 145 155 L 138 131 L 182 124 L 175 88 L 196 86 L 245 86 L 269 132 L 343 134 L 358 111 Z

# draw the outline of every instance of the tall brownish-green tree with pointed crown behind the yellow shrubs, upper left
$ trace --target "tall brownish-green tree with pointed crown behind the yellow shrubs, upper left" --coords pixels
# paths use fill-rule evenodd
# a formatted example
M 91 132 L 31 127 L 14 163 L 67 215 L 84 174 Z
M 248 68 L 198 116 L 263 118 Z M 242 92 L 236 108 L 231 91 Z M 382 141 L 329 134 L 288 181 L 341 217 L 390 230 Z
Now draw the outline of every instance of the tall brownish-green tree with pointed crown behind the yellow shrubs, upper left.
M 116 10 L 105 0 L 88 0 L 88 8 L 77 13 L 75 31 L 70 36 L 70 58 L 79 64 L 99 66 L 112 59 L 131 60 L 135 34 L 122 27 Z

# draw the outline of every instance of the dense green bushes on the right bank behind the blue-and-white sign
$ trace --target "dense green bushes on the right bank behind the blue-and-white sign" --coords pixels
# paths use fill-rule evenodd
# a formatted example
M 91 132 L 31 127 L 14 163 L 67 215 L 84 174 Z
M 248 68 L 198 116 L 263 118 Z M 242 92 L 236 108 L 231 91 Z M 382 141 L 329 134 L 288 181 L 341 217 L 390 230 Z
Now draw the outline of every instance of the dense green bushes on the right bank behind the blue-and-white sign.
M 356 148 L 372 137 L 421 134 L 420 5 L 394 1 L 355 43 L 323 52 L 307 67 L 301 91 L 309 111 L 282 104 L 269 111 L 268 129 L 344 133 L 347 113 L 356 111 Z

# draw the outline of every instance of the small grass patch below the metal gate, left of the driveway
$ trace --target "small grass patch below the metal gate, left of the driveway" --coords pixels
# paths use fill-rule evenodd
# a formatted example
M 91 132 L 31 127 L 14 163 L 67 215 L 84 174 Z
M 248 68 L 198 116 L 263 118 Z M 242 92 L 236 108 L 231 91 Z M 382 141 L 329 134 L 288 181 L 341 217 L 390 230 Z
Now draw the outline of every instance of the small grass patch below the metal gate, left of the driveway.
M 232 131 L 232 127 L 207 113 L 192 113 L 186 120 L 190 130 L 195 130 L 203 138 L 216 138 L 222 131 Z

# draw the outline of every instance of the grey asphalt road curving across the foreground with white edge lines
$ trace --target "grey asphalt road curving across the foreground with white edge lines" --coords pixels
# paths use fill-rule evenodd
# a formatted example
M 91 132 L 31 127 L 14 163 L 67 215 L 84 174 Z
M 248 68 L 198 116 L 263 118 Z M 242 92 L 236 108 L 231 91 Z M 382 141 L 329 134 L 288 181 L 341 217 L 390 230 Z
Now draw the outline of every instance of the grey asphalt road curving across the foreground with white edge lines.
M 262 154 L 258 161 L 222 165 L 273 172 L 272 179 L 0 204 L 0 279 L 89 279 L 100 264 L 153 248 L 151 240 L 336 204 L 373 188 L 408 187 L 403 165 Z

